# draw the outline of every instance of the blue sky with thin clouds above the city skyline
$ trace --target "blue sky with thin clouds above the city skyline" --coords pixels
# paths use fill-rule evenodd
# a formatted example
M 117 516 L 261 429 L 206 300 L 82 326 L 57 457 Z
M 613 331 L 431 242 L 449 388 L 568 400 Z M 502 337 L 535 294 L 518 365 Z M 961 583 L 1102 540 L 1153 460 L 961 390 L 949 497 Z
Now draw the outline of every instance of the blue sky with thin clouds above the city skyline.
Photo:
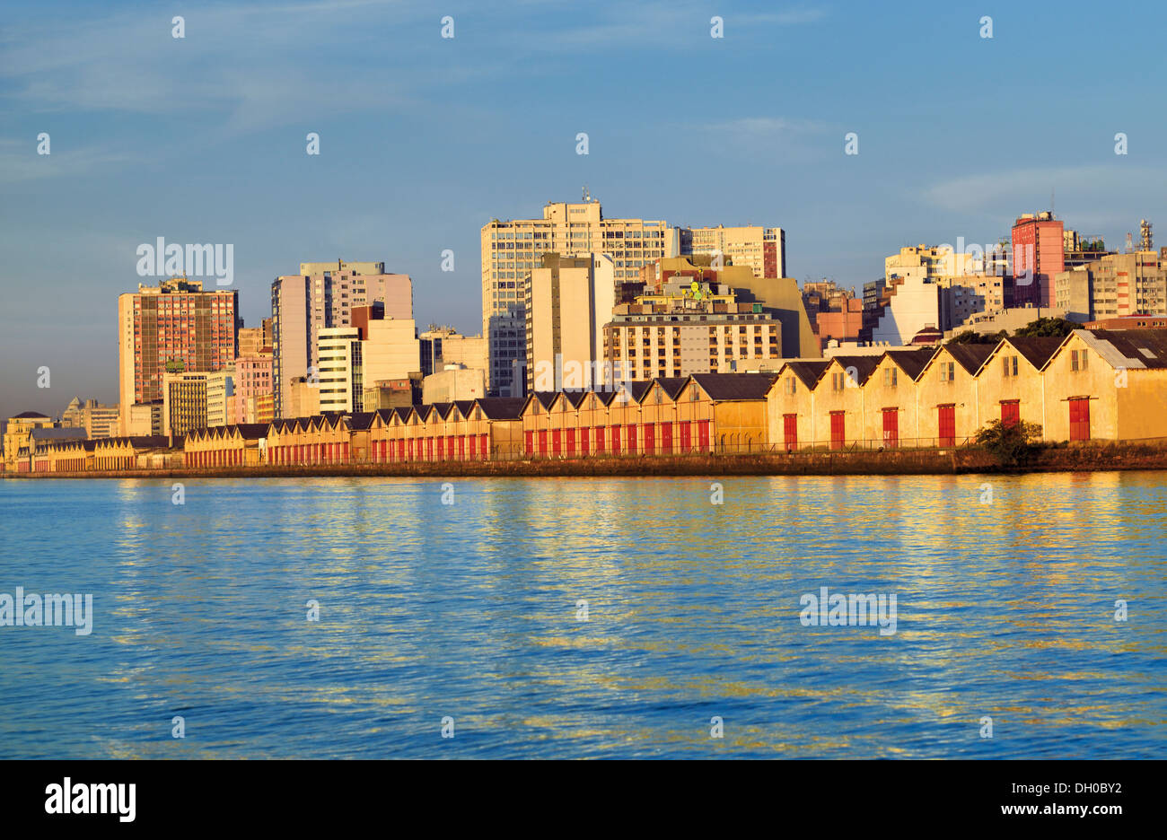
M 1167 225 L 1158 5 L 9 0 L 0 14 L 4 416 L 117 400 L 117 295 L 160 236 L 235 245 L 247 326 L 274 276 L 344 258 L 411 274 L 419 323 L 476 332 L 482 224 L 584 184 L 607 216 L 782 226 L 789 274 L 847 286 L 901 245 L 995 242 L 1054 189 L 1067 226 L 1111 246 L 1139 218 Z

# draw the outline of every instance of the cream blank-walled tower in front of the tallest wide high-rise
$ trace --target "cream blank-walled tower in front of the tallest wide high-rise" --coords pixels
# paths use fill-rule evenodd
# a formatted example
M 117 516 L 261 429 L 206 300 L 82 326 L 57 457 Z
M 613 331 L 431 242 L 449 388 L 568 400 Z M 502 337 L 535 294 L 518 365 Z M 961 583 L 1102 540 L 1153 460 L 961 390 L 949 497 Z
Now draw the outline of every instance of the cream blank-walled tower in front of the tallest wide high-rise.
M 564 391 L 612 385 L 603 360 L 603 326 L 616 286 L 607 254 L 543 256 L 524 281 L 526 390 Z

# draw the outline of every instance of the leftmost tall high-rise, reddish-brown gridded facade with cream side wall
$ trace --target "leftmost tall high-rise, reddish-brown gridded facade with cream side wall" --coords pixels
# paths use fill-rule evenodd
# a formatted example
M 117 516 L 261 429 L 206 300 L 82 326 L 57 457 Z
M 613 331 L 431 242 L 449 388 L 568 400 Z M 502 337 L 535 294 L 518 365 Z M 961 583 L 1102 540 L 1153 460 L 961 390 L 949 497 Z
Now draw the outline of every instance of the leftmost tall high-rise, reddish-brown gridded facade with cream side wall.
M 238 292 L 204 292 L 201 281 L 186 278 L 118 296 L 121 434 L 130 434 L 131 406 L 162 399 L 168 370 L 211 372 L 235 364 L 238 312 Z

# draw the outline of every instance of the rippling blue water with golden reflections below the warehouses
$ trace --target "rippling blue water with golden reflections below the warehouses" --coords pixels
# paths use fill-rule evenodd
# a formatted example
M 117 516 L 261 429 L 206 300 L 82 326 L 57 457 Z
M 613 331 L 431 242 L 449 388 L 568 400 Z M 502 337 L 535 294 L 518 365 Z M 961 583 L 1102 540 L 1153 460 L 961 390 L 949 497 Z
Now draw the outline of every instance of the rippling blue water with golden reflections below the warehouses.
M 1162 752 L 1165 474 L 454 489 L 0 482 L 0 592 L 96 612 L 0 628 L 0 757 Z

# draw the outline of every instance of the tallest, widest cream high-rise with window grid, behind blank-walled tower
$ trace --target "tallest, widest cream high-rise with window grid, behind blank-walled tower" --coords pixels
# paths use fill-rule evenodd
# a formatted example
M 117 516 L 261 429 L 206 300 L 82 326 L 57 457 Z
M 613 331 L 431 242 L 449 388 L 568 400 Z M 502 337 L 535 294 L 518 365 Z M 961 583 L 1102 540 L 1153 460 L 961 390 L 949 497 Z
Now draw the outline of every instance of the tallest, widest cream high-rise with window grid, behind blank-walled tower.
M 482 226 L 482 334 L 488 340 L 491 394 L 523 396 L 526 373 L 524 281 L 545 253 L 612 257 L 615 282 L 635 280 L 640 267 L 679 253 L 677 231 L 665 222 L 605 218 L 600 202 L 551 202 L 543 218 Z

